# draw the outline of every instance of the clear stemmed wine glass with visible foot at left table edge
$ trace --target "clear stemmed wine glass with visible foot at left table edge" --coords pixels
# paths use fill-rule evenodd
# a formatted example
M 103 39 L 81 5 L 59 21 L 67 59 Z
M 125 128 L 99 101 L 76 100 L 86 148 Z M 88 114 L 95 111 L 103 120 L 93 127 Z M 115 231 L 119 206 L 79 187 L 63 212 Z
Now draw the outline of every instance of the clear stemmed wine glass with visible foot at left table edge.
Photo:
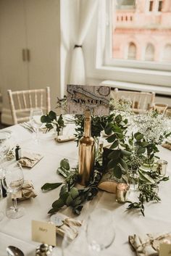
M 7 187 L 7 191 L 13 194 L 14 200 L 14 207 L 7 209 L 6 215 L 12 219 L 20 218 L 25 214 L 25 209 L 17 206 L 16 193 L 22 188 L 24 183 L 22 166 L 19 162 L 12 163 L 4 170 L 3 181 L 4 187 Z

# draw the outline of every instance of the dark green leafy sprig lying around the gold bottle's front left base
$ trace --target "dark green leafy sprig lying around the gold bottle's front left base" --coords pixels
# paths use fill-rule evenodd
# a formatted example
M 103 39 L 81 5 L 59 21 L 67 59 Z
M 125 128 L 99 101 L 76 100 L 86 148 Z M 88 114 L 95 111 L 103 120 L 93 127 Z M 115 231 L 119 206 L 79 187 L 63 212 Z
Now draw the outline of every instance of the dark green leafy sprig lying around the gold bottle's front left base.
M 60 167 L 57 172 L 64 177 L 63 183 L 45 183 L 41 187 L 42 191 L 50 191 L 63 185 L 59 193 L 59 199 L 53 202 L 51 205 L 52 208 L 48 213 L 54 214 L 62 207 L 67 206 L 72 207 L 72 212 L 76 215 L 80 215 L 83 204 L 86 201 L 92 200 L 93 197 L 96 197 L 96 194 L 99 191 L 97 184 L 101 179 L 101 173 L 99 173 L 99 171 L 95 171 L 93 180 L 90 181 L 88 186 L 83 189 L 78 189 L 75 187 L 75 184 L 79 180 L 78 168 L 70 168 L 70 164 L 67 159 L 63 159 L 60 162 Z

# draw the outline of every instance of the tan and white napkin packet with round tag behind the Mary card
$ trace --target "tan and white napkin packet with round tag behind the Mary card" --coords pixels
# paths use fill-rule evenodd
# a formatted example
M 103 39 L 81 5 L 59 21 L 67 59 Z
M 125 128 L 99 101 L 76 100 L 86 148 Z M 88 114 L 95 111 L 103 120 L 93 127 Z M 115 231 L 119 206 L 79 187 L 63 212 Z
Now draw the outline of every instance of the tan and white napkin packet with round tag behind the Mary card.
M 58 223 L 56 223 L 55 220 L 58 220 Z M 60 224 L 59 220 L 61 221 Z M 69 236 L 72 240 L 75 239 L 76 236 L 78 236 L 78 228 L 82 226 L 82 222 L 80 220 L 74 220 L 73 218 L 69 218 L 59 212 L 56 215 L 51 216 L 51 222 L 56 225 L 57 234 L 59 234 L 60 236 L 64 236 L 64 234 L 67 234 L 67 236 Z

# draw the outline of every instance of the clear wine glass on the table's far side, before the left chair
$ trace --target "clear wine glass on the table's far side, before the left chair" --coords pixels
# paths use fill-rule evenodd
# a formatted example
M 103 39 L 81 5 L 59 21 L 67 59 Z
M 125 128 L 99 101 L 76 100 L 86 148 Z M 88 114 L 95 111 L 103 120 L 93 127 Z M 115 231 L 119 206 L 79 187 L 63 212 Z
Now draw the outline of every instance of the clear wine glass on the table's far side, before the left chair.
M 39 140 L 39 128 L 41 128 L 41 116 L 43 115 L 43 110 L 33 109 L 30 111 L 30 123 L 36 130 L 36 142 Z

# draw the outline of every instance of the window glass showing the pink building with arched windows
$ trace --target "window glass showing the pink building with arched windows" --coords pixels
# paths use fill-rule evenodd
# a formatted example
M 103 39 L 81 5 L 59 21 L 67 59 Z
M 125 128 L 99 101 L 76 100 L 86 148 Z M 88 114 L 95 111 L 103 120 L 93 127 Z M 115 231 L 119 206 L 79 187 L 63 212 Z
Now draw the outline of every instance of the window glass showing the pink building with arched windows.
M 171 0 L 112 3 L 112 58 L 171 62 L 165 54 L 171 45 Z

